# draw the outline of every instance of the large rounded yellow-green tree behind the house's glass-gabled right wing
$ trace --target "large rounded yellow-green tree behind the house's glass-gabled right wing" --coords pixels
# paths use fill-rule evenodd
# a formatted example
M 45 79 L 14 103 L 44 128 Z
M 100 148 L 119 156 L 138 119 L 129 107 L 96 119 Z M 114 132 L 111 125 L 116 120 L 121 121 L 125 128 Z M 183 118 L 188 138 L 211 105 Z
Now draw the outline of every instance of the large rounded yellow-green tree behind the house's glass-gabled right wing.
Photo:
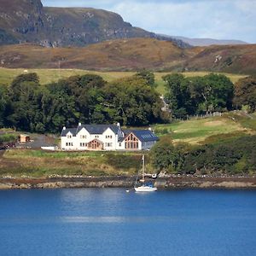
M 142 126 L 161 119 L 160 96 L 144 79 L 119 79 L 108 84 L 103 95 L 102 104 L 109 122 Z

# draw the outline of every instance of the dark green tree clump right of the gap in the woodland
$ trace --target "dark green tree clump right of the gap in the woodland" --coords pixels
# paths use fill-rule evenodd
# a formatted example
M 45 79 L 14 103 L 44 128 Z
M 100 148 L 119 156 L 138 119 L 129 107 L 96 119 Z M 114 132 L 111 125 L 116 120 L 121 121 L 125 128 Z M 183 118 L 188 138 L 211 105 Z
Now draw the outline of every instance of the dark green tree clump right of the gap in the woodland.
M 223 74 L 210 73 L 203 77 L 184 77 L 172 73 L 163 77 L 166 82 L 165 99 L 172 117 L 224 112 L 247 106 L 256 108 L 256 79 L 240 79 L 235 85 Z

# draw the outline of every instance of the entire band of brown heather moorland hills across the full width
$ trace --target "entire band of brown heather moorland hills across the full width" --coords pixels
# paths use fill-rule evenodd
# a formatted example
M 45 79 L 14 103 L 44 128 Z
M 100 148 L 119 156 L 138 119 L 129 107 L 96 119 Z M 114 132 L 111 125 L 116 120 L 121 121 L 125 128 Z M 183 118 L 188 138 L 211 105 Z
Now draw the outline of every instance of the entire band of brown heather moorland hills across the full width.
M 0 67 L 79 68 L 100 71 L 212 71 L 255 74 L 256 44 L 183 49 L 154 38 L 116 39 L 81 48 L 35 44 L 0 48 Z

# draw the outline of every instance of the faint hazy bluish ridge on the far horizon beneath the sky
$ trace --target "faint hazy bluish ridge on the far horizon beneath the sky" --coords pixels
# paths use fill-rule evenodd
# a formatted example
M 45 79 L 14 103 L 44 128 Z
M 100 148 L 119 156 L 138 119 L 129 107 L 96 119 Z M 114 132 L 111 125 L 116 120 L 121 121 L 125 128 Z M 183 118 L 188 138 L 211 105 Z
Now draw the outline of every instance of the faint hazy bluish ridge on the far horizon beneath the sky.
M 184 37 L 167 36 L 167 35 L 160 35 L 160 36 L 163 36 L 166 38 L 176 38 L 193 46 L 210 46 L 213 44 L 216 44 L 216 45 L 247 44 L 247 42 L 244 42 L 241 40 L 218 40 L 218 39 L 212 39 L 212 38 L 184 38 Z

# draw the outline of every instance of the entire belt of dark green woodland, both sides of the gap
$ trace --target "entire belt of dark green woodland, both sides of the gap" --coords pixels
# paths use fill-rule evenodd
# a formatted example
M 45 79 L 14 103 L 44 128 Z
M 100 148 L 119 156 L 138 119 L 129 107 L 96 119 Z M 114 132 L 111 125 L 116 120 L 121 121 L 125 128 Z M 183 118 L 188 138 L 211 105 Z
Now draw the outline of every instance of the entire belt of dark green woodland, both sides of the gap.
M 108 83 L 95 74 L 73 76 L 40 85 L 36 73 L 21 74 L 0 87 L 0 127 L 20 131 L 59 133 L 63 125 L 79 122 L 144 126 L 169 122 L 171 116 L 228 111 L 246 105 L 255 111 L 256 79 L 248 77 L 236 86 L 222 74 L 185 78 L 181 73 L 163 77 L 170 113 L 161 111 L 154 73 L 142 70 L 134 76 Z

